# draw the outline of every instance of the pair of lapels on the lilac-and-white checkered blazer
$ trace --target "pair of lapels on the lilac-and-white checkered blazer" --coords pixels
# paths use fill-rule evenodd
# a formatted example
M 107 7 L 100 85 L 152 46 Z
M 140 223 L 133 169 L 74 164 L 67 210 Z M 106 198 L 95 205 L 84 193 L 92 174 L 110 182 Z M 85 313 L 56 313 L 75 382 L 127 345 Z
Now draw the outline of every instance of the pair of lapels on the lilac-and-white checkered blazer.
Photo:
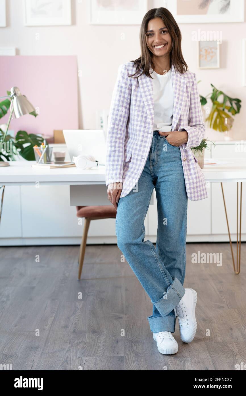
M 152 71 L 151 67 L 149 71 L 150 72 Z M 184 74 L 175 71 L 175 68 L 172 65 L 171 79 L 173 82 L 173 95 L 174 95 L 172 131 L 175 131 L 182 110 L 183 97 L 184 97 L 184 92 L 186 90 L 186 78 L 184 77 Z M 138 77 L 138 81 L 139 81 L 139 87 L 141 89 L 143 101 L 145 103 L 146 112 L 150 120 L 150 125 L 153 125 L 154 98 L 153 98 L 152 79 L 147 77 L 146 74 L 142 74 L 141 76 Z

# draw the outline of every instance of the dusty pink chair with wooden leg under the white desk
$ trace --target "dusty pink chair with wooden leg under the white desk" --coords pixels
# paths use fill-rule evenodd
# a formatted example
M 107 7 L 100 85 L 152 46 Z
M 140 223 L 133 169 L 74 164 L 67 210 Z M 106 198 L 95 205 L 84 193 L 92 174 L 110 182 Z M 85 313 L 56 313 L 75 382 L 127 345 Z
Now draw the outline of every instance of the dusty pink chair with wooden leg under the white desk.
M 77 217 L 85 217 L 84 232 L 82 236 L 80 251 L 79 251 L 79 275 L 78 279 L 81 278 L 81 272 L 83 268 L 85 258 L 86 240 L 91 220 L 100 219 L 115 219 L 116 209 L 113 205 L 103 206 L 76 206 Z

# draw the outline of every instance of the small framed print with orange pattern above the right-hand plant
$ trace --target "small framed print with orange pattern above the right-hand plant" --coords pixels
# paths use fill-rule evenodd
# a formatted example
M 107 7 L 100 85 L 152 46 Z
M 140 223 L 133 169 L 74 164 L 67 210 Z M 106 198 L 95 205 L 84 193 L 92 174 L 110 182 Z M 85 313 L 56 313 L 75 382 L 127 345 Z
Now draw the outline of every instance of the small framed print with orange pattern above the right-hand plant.
M 197 41 L 197 68 L 220 68 L 220 42 Z

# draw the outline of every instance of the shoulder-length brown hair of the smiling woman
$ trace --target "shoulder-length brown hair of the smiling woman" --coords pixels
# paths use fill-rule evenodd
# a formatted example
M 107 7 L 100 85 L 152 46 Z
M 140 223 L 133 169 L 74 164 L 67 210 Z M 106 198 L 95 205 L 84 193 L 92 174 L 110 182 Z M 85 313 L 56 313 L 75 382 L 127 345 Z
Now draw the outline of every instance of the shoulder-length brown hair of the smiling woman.
M 182 37 L 178 24 L 175 21 L 171 12 L 167 10 L 167 8 L 159 7 L 159 8 L 152 8 L 152 10 L 149 10 L 143 18 L 140 28 L 141 56 L 138 59 L 135 59 L 135 61 L 130 61 L 133 62 L 133 65 L 137 69 L 134 74 L 130 75 L 130 77 L 135 76 L 135 74 L 137 74 L 143 69 L 142 73 L 139 75 L 141 76 L 143 73 L 145 73 L 146 76 L 152 78 L 149 69 L 150 67 L 154 69 L 154 63 L 152 61 L 153 54 L 149 50 L 146 43 L 146 30 L 148 27 L 148 22 L 150 21 L 150 19 L 154 19 L 154 18 L 162 19 L 163 23 L 165 24 L 165 27 L 167 27 L 168 32 L 172 38 L 172 46 L 169 52 L 171 65 L 173 64 L 175 70 L 178 70 L 178 72 L 182 74 L 188 70 L 188 66 L 184 61 L 182 55 L 182 49 L 181 49 Z

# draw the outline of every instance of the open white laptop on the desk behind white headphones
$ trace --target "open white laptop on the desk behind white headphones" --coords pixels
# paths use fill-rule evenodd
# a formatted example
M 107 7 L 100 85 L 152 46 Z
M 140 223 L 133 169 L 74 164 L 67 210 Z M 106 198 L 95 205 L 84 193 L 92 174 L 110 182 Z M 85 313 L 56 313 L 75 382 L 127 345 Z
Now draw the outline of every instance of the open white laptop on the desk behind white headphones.
M 63 129 L 70 159 L 73 156 L 93 155 L 99 165 L 106 162 L 106 138 L 102 129 Z

